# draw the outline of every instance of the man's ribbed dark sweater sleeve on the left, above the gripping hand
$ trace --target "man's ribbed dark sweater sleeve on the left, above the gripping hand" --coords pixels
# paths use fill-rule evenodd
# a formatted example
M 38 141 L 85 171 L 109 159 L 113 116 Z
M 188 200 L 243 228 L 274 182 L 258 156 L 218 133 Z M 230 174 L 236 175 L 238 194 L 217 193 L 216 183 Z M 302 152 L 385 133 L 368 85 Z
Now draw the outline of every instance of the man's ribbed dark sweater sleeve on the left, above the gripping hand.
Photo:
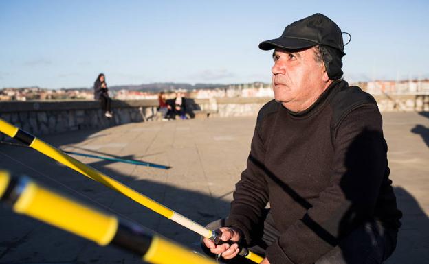
M 231 202 L 230 215 L 226 220 L 227 226 L 243 232 L 248 245 L 251 245 L 252 237 L 262 232 L 263 209 L 268 202 L 263 166 L 265 148 L 258 127 L 259 124 L 256 123 L 247 168 L 241 173 L 241 180 L 235 186 L 234 200 Z

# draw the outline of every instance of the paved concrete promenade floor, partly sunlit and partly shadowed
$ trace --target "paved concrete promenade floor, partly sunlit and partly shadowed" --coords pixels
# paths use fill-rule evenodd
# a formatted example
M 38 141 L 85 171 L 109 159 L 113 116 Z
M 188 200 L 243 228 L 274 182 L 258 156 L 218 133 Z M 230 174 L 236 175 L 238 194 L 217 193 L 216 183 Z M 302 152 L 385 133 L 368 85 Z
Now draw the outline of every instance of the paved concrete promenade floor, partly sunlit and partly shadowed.
M 201 224 L 228 213 L 245 168 L 256 117 L 129 123 L 41 139 L 61 149 L 143 160 L 156 169 L 74 156 Z M 384 113 L 391 179 L 404 212 L 399 243 L 388 264 L 429 263 L 429 115 Z M 199 250 L 199 236 L 159 217 L 102 184 L 32 149 L 0 145 L 0 169 L 39 182 Z M 100 248 L 0 206 L 0 263 L 142 263 L 115 248 Z M 174 261 L 172 261 L 174 264 Z

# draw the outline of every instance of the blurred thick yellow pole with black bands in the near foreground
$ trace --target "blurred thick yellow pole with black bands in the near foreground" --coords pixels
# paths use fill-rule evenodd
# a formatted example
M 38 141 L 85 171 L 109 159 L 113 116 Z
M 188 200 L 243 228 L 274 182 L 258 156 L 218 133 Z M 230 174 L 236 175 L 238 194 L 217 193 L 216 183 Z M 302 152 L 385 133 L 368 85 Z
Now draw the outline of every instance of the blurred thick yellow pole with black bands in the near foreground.
M 12 206 L 15 213 L 39 219 L 98 245 L 115 245 L 131 251 L 148 263 L 217 263 L 141 226 L 71 200 L 29 178 L 10 177 L 5 171 L 0 171 L 0 202 Z

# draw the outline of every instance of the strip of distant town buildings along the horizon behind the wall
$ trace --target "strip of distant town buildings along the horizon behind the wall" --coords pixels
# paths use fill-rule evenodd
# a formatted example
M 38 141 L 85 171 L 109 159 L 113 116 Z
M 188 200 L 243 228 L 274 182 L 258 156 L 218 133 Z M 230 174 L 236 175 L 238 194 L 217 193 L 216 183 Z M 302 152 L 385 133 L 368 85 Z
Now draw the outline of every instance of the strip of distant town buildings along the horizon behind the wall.
M 425 80 L 403 80 L 403 81 L 373 81 L 358 82 L 362 90 L 372 95 L 429 95 L 429 79 Z M 193 89 L 192 91 L 177 89 L 170 86 L 166 97 L 172 99 L 176 92 L 186 93 L 190 98 L 222 98 L 222 97 L 274 97 L 271 84 L 254 82 L 250 84 L 230 84 L 228 86 Z M 176 90 L 173 90 L 176 89 Z M 109 91 L 111 97 L 118 100 L 144 100 L 157 99 L 158 92 L 135 91 L 122 89 L 120 91 Z M 28 101 L 28 100 L 64 100 L 79 99 L 93 100 L 94 91 L 89 88 L 61 88 L 45 89 L 39 87 L 26 88 L 3 88 L 0 89 L 0 101 Z

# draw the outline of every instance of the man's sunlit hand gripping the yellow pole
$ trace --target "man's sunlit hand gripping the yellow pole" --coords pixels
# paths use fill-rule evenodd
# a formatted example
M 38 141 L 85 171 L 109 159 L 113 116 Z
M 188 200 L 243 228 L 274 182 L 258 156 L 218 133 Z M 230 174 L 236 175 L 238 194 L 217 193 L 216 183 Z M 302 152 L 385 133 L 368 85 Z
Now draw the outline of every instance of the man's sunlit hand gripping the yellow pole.
M 232 259 L 234 256 L 239 254 L 239 244 L 238 242 L 241 239 L 241 234 L 238 230 L 234 230 L 233 228 L 219 228 L 221 232 L 221 241 L 230 242 L 223 243 L 220 245 L 215 245 L 209 239 L 204 238 L 203 243 L 207 248 L 210 248 L 210 251 L 214 254 L 221 254 L 223 259 Z

